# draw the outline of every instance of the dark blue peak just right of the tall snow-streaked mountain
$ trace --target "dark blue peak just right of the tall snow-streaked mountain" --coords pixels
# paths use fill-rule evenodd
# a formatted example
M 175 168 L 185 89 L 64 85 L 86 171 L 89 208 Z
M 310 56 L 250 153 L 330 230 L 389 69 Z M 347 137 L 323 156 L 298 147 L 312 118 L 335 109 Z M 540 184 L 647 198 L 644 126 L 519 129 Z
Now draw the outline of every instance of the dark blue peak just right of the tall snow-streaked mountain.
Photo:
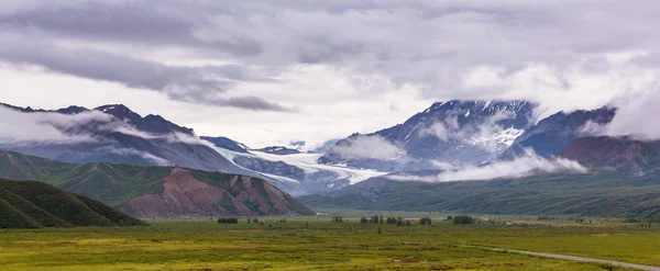
M 513 157 L 531 148 L 542 157 L 559 155 L 561 150 L 575 139 L 600 134 L 603 126 L 609 124 L 616 109 L 579 110 L 572 113 L 559 112 L 541 120 L 537 125 L 520 135 L 505 157 Z

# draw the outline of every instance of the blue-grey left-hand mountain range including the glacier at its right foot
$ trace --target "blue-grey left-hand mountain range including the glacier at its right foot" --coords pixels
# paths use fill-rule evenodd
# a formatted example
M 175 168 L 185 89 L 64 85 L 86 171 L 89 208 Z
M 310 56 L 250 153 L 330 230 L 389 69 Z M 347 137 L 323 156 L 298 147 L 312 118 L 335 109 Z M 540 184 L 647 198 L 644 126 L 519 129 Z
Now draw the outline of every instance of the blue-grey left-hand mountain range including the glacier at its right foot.
M 122 104 L 96 109 L 69 106 L 53 111 L 2 105 L 0 109 L 6 110 L 0 113 L 11 114 L 8 117 L 25 118 L 25 122 L 32 122 L 40 128 L 55 128 L 67 139 L 16 142 L 0 138 L 0 149 L 67 162 L 177 166 L 251 176 L 294 195 L 337 190 L 378 174 L 372 171 L 361 173 L 360 170 L 343 167 L 317 166 L 316 161 L 307 165 L 307 154 L 296 149 L 251 149 L 227 137 L 198 137 L 191 128 L 174 124 L 160 115 L 142 117 Z M 277 156 L 270 156 L 273 154 L 292 155 L 287 159 L 301 159 L 305 162 L 290 165 Z

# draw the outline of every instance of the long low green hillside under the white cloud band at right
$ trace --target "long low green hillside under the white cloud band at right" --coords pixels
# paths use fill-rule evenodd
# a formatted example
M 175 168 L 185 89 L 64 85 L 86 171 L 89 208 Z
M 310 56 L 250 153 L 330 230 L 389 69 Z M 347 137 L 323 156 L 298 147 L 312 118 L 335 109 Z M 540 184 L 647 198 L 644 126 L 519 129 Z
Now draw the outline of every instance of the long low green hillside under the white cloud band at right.
M 628 167 L 588 174 L 444 183 L 375 178 L 336 193 L 299 200 L 321 210 L 658 217 L 660 173 L 656 167 Z

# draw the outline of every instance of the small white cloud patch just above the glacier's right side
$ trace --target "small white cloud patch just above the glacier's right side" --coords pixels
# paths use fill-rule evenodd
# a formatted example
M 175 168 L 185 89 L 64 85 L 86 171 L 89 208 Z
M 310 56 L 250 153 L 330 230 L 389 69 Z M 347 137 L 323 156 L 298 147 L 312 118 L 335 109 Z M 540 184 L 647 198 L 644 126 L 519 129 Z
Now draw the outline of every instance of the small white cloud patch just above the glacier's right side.
M 336 145 L 331 151 L 343 159 L 396 159 L 406 157 L 406 150 L 389 143 L 385 138 L 373 135 L 360 135 L 348 139 L 348 145 Z

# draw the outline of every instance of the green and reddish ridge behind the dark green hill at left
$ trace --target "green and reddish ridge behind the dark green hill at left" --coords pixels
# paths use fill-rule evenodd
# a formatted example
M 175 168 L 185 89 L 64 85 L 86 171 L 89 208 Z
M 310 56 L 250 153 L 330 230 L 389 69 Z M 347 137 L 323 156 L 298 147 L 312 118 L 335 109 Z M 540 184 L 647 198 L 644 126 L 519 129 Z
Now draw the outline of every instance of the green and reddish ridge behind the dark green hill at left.
M 68 163 L 0 151 L 0 178 L 41 180 L 141 217 L 314 213 L 261 179 L 173 167 Z

